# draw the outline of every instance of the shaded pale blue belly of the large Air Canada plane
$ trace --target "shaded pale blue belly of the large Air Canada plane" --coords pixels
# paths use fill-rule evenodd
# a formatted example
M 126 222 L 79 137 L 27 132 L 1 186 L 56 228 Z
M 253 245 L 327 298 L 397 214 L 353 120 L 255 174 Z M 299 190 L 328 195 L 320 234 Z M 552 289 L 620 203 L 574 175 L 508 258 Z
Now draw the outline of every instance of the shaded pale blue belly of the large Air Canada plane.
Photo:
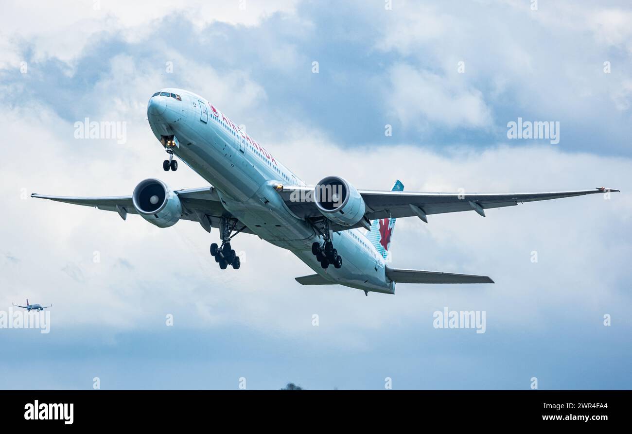
M 217 134 L 199 134 L 196 129 L 187 129 L 186 133 L 180 134 L 184 140 L 179 140 L 176 155 L 214 184 L 218 193 L 223 193 L 220 195 L 226 210 L 257 236 L 292 251 L 314 272 L 334 284 L 392 293 L 384 279 L 384 268 L 377 267 L 374 258 L 339 233 L 334 234 L 334 246 L 343 257 L 343 266 L 322 268 L 312 255 L 312 243 L 322 242 L 322 237 L 308 222 L 289 212 L 281 197 L 266 184 L 269 179 L 265 174 L 252 166 L 231 143 L 219 140 L 221 137 Z

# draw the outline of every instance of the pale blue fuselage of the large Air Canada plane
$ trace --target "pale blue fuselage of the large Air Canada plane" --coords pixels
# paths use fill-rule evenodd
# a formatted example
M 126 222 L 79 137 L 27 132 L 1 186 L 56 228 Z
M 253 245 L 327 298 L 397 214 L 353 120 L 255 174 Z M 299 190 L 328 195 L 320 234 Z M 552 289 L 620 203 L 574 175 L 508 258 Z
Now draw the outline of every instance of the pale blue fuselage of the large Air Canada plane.
M 166 88 L 149 100 L 147 117 L 156 138 L 174 136 L 173 153 L 212 184 L 226 211 L 260 238 L 292 251 L 332 283 L 394 294 L 384 258 L 357 229 L 334 232 L 332 241 L 344 258 L 341 268 L 324 269 L 312 255 L 322 241 L 313 226 L 294 215 L 274 190 L 276 184 L 305 185 L 225 114 L 195 93 Z

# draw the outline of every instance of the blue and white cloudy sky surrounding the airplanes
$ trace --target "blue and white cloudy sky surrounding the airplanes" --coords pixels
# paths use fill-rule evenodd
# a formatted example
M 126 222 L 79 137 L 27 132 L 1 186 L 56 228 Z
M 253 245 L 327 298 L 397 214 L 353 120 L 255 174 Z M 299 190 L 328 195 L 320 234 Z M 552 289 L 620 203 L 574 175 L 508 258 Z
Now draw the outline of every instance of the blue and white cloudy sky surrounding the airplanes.
M 629 2 L 169 3 L 3 4 L 0 311 L 54 308 L 49 334 L 0 329 L 1 389 L 632 387 Z M 254 236 L 222 271 L 217 231 L 28 197 L 204 186 L 162 171 L 162 87 L 204 95 L 307 183 L 623 192 L 399 219 L 394 266 L 496 284 L 368 297 L 300 286 L 310 270 Z M 126 143 L 76 139 L 85 118 L 125 122 Z M 559 122 L 559 143 L 509 140 L 518 118 Z M 446 307 L 485 311 L 485 333 L 435 329 Z

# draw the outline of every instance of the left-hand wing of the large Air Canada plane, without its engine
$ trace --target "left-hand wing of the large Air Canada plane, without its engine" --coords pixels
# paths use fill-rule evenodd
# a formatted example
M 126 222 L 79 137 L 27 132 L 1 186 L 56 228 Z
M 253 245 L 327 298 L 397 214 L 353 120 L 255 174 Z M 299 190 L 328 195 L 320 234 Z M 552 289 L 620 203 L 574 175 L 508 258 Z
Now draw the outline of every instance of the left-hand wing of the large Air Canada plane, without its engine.
M 217 191 L 213 187 L 175 190 L 174 193 L 178 195 L 182 203 L 183 213 L 181 218 L 199 222 L 207 232 L 210 232 L 211 227 L 219 227 L 219 221 L 222 217 L 233 217 L 222 206 L 219 195 L 217 195 Z M 127 214 L 138 214 L 131 201 L 131 196 L 73 197 L 47 196 L 33 193 L 31 197 L 114 211 L 118 212 L 123 220 L 127 218 Z M 241 222 L 235 227 L 235 230 L 240 229 L 240 225 L 244 227 L 242 232 L 253 233 Z

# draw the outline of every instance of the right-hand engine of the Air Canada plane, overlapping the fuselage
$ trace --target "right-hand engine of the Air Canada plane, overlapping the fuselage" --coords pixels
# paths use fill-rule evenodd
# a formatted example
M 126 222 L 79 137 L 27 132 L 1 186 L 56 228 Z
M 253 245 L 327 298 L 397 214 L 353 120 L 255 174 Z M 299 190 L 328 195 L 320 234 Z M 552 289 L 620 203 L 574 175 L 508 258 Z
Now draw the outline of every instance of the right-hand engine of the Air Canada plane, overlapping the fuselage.
M 316 207 L 327 219 L 341 226 L 353 226 L 362 219 L 367 206 L 346 179 L 327 176 L 314 189 Z

